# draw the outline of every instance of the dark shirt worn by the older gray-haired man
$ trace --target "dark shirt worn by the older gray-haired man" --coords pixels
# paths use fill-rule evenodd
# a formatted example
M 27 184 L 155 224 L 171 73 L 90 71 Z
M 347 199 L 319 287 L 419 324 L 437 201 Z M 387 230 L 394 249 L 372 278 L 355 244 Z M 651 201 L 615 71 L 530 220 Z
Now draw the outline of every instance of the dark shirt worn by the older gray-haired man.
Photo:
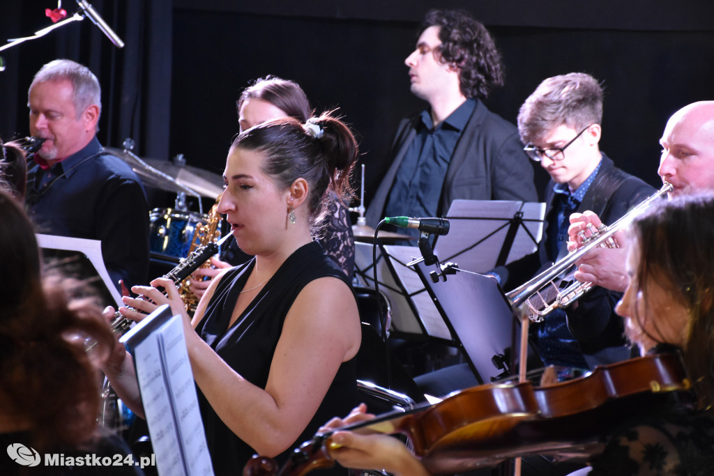
M 147 283 L 149 205 L 139 177 L 97 138 L 49 170 L 33 164 L 27 181 L 29 215 L 38 233 L 101 241 L 112 282 Z

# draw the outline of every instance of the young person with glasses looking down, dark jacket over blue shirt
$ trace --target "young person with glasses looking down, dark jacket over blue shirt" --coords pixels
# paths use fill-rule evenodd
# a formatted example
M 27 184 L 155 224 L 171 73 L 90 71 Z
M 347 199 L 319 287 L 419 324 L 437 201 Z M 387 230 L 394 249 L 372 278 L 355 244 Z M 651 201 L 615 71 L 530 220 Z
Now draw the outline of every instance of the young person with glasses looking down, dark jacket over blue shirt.
M 550 183 L 538 250 L 494 270 L 504 289 L 521 285 L 568 253 L 571 213 L 593 210 L 604 223 L 613 223 L 655 192 L 600 151 L 602 116 L 603 89 L 582 73 L 545 79 L 521 106 L 518 132 L 527 144 L 524 150 L 545 168 Z M 592 369 L 629 358 L 623 321 L 614 312 L 620 295 L 594 288 L 570 308 L 555 310 L 532 325 L 531 337 L 543 363 Z

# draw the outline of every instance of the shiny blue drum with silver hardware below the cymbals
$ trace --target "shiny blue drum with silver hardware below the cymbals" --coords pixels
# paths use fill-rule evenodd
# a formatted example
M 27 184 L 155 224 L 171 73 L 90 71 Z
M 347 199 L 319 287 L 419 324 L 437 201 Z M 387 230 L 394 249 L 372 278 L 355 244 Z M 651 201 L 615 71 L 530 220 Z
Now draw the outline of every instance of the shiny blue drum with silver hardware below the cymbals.
M 196 236 L 196 226 L 206 225 L 208 216 L 200 213 L 184 212 L 172 208 L 154 208 L 149 213 L 149 245 L 151 251 L 164 255 L 186 258 L 191 249 L 191 241 Z

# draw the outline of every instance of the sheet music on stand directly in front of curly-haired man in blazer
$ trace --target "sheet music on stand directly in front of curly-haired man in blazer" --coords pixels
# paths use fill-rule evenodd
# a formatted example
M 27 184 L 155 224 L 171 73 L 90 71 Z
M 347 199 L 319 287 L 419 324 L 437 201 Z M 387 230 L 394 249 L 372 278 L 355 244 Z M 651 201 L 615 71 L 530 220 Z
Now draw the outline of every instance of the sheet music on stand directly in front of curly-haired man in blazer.
M 448 235 L 440 236 L 434 254 L 442 262 L 453 261 L 462 269 L 486 273 L 496 266 L 496 260 L 508 233 L 511 219 L 523 213 L 523 227 L 513 240 L 506 263 L 523 258 L 538 248 L 543 236 L 545 203 L 524 203 L 501 200 L 454 200 L 446 218 Z

